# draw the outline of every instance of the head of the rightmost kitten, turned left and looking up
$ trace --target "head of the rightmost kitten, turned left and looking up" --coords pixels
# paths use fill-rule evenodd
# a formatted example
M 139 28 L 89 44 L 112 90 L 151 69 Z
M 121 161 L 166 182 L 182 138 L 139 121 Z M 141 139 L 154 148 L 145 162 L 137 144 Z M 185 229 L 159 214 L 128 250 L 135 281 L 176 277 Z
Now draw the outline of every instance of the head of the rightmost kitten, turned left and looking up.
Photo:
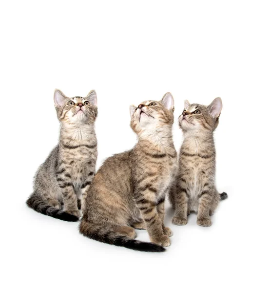
M 184 131 L 213 132 L 218 125 L 222 110 L 222 101 L 215 98 L 209 106 L 190 104 L 185 101 L 185 109 L 179 116 L 180 128 Z

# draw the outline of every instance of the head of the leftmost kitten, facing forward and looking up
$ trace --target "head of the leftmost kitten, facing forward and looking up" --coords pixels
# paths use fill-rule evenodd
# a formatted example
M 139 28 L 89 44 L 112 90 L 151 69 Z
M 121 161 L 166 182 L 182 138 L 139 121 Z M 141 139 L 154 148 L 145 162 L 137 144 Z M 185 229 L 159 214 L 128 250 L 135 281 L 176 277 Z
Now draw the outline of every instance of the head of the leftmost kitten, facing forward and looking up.
M 91 90 L 85 97 L 66 97 L 59 89 L 54 94 L 57 117 L 61 123 L 91 124 L 97 116 L 96 91 Z

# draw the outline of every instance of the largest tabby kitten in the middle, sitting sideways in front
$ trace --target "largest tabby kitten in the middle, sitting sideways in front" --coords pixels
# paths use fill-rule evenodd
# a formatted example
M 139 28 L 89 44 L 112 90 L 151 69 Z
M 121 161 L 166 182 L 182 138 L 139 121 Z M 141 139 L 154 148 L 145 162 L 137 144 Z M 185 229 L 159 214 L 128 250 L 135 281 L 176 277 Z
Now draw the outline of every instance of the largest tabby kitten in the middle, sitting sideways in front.
M 131 106 L 133 149 L 108 158 L 88 190 L 80 233 L 97 241 L 138 251 L 164 251 L 170 245 L 164 201 L 177 166 L 172 125 L 174 99 Z M 134 240 L 147 229 L 153 243 Z

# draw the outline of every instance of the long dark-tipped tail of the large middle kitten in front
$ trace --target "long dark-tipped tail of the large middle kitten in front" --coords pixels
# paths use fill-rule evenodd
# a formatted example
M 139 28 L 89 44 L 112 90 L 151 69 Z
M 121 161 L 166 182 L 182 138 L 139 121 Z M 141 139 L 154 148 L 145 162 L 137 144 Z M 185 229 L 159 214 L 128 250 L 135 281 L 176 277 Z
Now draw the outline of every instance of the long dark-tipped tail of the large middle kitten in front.
M 109 228 L 96 227 L 84 219 L 80 222 L 79 231 L 82 235 L 96 241 L 122 246 L 136 251 L 163 252 L 165 248 L 151 242 L 142 242 L 116 233 Z

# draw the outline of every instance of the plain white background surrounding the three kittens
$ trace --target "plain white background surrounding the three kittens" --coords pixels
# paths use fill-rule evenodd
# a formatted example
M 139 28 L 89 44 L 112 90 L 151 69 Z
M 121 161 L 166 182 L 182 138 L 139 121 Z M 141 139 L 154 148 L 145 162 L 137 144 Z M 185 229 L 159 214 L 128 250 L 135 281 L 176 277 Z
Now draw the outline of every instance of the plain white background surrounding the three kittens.
M 269 292 L 268 1 L 1 1 L 1 292 Z M 165 253 L 84 238 L 25 205 L 58 142 L 55 88 L 98 97 L 97 168 L 136 142 L 129 105 L 220 96 L 213 225 L 172 228 Z M 174 125 L 178 150 L 182 134 Z M 149 241 L 146 231 L 138 239 Z

